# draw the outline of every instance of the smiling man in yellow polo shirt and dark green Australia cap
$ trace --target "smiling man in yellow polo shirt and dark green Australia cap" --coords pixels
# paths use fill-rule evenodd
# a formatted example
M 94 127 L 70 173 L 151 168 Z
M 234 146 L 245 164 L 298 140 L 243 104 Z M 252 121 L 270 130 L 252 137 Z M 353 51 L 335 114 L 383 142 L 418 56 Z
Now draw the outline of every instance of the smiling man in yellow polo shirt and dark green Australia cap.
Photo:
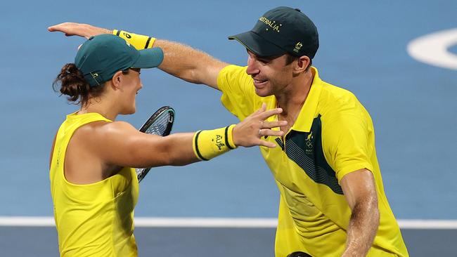
M 408 256 L 382 185 L 371 117 L 352 93 L 323 81 L 311 66 L 318 32 L 300 10 L 273 8 L 250 31 L 229 37 L 245 46 L 245 67 L 129 32 L 75 23 L 49 30 L 83 37 L 113 33 L 138 48 L 159 46 L 165 52 L 161 70 L 218 89 L 226 109 L 241 120 L 264 103 L 282 107 L 268 120 L 288 121 L 281 127 L 285 135 L 266 137 L 279 147 L 260 147 L 281 192 L 276 257 L 297 251 Z

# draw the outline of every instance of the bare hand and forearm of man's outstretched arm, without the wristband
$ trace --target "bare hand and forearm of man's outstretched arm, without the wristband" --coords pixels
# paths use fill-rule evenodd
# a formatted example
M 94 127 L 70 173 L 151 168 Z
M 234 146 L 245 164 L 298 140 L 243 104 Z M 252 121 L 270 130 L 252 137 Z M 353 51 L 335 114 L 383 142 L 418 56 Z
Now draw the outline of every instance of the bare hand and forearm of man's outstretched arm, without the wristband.
M 48 30 L 50 32 L 63 32 L 65 36 L 79 36 L 86 39 L 98 34 L 112 34 L 110 29 L 74 22 L 60 23 L 49 27 Z M 217 76 L 228 63 L 221 62 L 190 46 L 172 41 L 157 39 L 154 46 L 160 47 L 164 51 L 164 60 L 159 66 L 160 70 L 191 83 L 205 84 L 219 89 Z

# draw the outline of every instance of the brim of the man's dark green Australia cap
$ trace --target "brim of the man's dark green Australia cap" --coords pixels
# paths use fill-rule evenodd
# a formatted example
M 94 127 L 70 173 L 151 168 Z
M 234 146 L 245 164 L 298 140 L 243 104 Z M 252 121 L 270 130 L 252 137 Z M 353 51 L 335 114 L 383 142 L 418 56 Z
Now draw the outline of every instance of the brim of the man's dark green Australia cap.
M 236 34 L 234 36 L 228 37 L 228 39 L 240 42 L 252 53 L 255 53 L 259 56 L 276 56 L 283 55 L 287 51 L 279 46 L 276 46 L 269 41 L 266 41 L 263 37 L 260 37 L 258 34 L 255 34 L 252 31 L 243 32 Z

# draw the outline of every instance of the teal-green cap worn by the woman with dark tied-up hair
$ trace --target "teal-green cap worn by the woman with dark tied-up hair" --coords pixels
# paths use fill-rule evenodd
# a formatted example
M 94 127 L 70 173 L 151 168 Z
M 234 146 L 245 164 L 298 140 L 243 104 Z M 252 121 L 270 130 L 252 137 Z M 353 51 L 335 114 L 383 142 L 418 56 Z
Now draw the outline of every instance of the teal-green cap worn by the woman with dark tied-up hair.
M 90 86 L 98 86 L 112 79 L 120 70 L 148 69 L 162 63 L 161 48 L 136 50 L 124 39 L 112 34 L 89 38 L 79 48 L 75 65 Z

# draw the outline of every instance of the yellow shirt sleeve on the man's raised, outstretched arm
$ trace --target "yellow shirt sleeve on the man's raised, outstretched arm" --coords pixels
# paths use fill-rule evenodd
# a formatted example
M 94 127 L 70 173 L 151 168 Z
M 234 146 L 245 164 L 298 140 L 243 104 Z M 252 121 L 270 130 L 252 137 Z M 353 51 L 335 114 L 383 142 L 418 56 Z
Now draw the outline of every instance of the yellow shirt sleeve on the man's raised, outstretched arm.
M 222 105 L 240 120 L 262 105 L 255 94 L 252 78 L 246 74 L 246 69 L 247 67 L 228 65 L 217 77 L 217 86 L 222 91 Z

